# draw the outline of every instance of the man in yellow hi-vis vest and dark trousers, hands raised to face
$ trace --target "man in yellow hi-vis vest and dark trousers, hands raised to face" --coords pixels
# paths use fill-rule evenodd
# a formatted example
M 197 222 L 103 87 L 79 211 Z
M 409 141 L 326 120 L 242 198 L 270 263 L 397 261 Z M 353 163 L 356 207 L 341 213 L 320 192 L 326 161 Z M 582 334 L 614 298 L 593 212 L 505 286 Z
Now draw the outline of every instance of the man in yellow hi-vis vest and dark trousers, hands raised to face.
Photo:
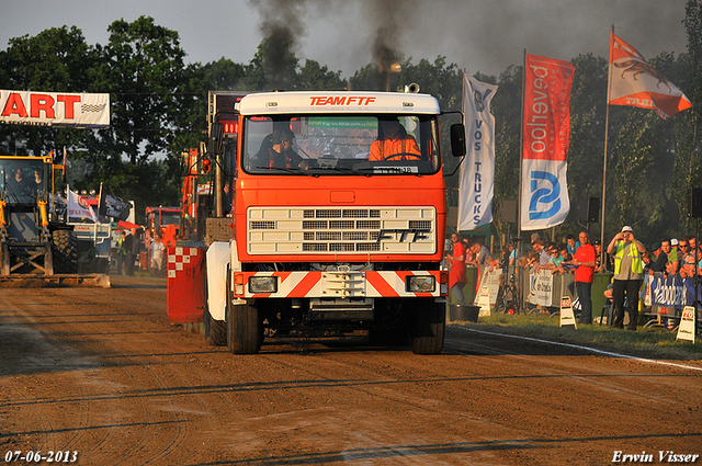
M 644 281 L 642 255 L 646 248 L 634 238 L 632 227 L 624 227 L 607 247 L 607 252 L 614 257 L 614 281 L 612 282 L 612 303 L 614 320 L 612 326 L 624 328 L 624 297 L 629 314 L 627 330 L 636 330 L 638 318 L 638 291 Z

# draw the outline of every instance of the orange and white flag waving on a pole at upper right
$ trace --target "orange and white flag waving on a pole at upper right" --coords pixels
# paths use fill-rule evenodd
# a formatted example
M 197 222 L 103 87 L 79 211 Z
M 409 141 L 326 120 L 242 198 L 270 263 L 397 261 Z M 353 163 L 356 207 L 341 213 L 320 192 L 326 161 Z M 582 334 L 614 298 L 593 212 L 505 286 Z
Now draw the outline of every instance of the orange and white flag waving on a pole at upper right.
M 664 120 L 692 106 L 680 89 L 614 31 L 610 36 L 610 105 L 653 109 Z

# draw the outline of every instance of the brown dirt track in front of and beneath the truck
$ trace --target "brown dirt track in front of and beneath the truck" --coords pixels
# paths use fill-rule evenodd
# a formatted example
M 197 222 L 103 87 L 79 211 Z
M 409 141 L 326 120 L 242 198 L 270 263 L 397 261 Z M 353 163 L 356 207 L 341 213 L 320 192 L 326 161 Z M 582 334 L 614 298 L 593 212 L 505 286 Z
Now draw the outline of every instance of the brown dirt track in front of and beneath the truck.
M 2 456 L 589 465 L 615 451 L 654 464 L 658 451 L 702 454 L 700 370 L 461 328 L 439 356 L 304 342 L 235 356 L 168 323 L 163 280 L 112 283 L 0 289 Z

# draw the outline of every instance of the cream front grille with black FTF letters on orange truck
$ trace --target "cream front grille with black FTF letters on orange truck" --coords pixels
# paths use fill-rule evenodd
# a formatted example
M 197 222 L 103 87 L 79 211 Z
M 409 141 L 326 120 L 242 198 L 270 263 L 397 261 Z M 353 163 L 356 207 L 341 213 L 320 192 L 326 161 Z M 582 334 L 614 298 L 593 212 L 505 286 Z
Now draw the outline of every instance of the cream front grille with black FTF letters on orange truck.
M 249 254 L 431 254 L 433 207 L 250 207 Z

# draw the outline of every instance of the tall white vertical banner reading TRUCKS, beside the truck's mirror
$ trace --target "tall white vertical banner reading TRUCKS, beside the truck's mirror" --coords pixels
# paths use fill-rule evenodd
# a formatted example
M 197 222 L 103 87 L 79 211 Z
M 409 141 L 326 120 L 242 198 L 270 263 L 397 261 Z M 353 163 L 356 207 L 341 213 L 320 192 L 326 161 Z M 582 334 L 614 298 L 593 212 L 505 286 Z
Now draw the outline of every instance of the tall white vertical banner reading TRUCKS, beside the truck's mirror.
M 458 230 L 492 221 L 495 187 L 495 116 L 490 100 L 497 86 L 463 75 L 466 157 L 458 185 Z

